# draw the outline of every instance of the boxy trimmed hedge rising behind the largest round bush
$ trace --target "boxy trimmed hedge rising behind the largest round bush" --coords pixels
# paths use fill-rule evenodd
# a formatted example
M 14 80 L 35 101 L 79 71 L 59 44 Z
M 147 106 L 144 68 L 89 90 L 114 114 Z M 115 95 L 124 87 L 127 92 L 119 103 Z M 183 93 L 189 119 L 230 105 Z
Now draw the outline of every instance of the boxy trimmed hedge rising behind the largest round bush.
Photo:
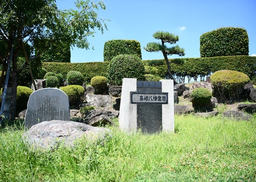
M 136 40 L 109 40 L 104 44 L 104 62 L 110 61 L 120 54 L 133 54 L 142 59 L 139 41 Z

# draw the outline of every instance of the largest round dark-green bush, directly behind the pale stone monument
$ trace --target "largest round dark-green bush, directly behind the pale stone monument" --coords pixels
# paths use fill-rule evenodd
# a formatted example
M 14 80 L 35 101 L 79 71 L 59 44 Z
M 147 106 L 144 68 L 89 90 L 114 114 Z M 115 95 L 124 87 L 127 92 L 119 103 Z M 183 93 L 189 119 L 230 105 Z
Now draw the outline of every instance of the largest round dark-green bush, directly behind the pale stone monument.
M 123 78 L 137 78 L 144 80 L 144 66 L 142 60 L 136 55 L 118 55 L 109 63 L 109 83 L 121 85 Z

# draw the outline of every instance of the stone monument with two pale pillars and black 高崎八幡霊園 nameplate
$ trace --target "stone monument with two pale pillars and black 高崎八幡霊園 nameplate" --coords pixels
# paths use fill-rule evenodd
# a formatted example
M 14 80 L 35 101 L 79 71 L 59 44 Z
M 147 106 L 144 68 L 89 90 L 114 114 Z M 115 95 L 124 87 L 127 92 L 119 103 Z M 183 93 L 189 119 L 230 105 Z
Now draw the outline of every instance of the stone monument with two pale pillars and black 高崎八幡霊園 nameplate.
M 119 126 L 126 132 L 148 134 L 174 131 L 173 80 L 159 82 L 124 78 Z

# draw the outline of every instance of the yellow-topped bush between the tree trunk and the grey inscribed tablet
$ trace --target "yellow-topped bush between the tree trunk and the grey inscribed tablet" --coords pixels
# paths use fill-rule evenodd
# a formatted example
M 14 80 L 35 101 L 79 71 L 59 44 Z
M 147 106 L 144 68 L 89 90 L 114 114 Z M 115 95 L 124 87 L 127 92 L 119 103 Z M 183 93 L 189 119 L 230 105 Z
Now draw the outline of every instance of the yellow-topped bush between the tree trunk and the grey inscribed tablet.
M 27 102 L 29 101 L 29 96 L 32 94 L 33 90 L 29 87 L 18 86 L 17 87 L 17 103 L 16 112 L 23 111 L 27 108 Z

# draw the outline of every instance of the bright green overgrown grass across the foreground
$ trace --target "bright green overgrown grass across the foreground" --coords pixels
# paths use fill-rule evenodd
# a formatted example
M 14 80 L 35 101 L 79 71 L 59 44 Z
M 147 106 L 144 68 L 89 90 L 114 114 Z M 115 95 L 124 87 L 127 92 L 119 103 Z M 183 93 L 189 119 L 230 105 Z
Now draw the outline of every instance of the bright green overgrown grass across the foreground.
M 117 124 L 117 120 L 115 121 Z M 0 181 L 254 181 L 256 120 L 175 116 L 175 133 L 125 134 L 103 145 L 30 150 L 24 130 L 0 132 Z

